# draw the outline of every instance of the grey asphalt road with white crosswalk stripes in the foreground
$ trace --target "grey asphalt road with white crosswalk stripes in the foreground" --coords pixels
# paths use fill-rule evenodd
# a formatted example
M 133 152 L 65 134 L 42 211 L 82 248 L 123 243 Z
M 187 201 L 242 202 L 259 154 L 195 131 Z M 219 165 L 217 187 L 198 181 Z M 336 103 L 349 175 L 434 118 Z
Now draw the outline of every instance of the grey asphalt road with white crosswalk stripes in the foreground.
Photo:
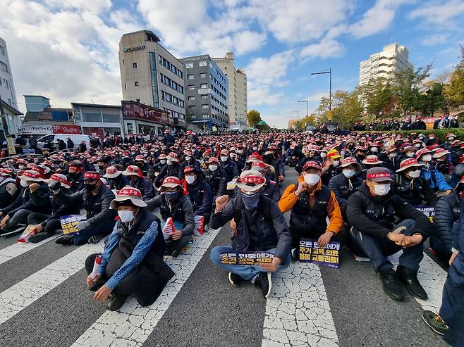
M 296 177 L 287 168 L 283 187 Z M 293 263 L 279 272 L 266 300 L 251 284 L 232 286 L 209 260 L 229 232 L 209 231 L 176 260 L 166 257 L 176 277 L 152 306 L 131 298 L 112 313 L 85 284 L 84 260 L 102 244 L 1 237 L 0 346 L 446 346 L 421 317 L 439 309 L 446 279 L 429 255 L 419 274 L 428 301 L 389 298 L 370 263 L 346 248 L 338 270 Z

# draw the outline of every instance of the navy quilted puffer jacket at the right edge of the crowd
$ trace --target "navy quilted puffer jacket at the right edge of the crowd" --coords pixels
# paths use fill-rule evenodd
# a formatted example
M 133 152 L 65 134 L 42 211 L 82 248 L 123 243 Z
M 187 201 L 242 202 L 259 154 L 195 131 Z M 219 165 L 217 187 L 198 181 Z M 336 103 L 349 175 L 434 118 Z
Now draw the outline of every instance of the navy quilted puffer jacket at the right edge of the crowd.
M 460 203 L 459 192 L 453 191 L 451 194 L 439 198 L 435 206 L 436 236 L 450 252 L 453 241 L 456 239 L 456 235 L 453 234 L 453 225 L 459 220 Z

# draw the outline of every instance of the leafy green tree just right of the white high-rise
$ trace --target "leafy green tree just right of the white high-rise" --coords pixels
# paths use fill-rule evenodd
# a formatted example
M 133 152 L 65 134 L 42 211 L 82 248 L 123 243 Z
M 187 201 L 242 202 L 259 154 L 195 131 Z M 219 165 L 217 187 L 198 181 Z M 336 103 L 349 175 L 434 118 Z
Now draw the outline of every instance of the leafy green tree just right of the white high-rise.
M 398 106 L 404 114 L 420 108 L 420 87 L 429 77 L 432 64 L 418 68 L 408 68 L 393 75 L 393 92 L 398 97 Z

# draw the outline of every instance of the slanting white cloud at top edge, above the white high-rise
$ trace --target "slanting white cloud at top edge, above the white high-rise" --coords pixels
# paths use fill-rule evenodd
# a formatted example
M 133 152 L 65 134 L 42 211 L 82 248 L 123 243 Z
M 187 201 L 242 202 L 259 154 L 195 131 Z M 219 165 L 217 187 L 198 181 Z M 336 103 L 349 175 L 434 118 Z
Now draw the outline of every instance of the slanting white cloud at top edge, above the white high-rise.
M 377 34 L 388 28 L 395 18 L 396 8 L 407 0 L 377 0 L 362 18 L 350 25 L 349 31 L 356 38 Z

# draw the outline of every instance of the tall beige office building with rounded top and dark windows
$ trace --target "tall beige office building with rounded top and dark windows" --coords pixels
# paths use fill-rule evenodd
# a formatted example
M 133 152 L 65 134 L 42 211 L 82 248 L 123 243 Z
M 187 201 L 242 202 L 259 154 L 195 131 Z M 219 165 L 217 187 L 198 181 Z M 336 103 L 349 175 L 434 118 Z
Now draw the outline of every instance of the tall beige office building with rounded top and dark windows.
M 169 127 L 185 128 L 185 84 L 181 61 L 156 34 L 140 30 L 123 34 L 119 68 L 124 101 L 135 101 L 169 113 Z

